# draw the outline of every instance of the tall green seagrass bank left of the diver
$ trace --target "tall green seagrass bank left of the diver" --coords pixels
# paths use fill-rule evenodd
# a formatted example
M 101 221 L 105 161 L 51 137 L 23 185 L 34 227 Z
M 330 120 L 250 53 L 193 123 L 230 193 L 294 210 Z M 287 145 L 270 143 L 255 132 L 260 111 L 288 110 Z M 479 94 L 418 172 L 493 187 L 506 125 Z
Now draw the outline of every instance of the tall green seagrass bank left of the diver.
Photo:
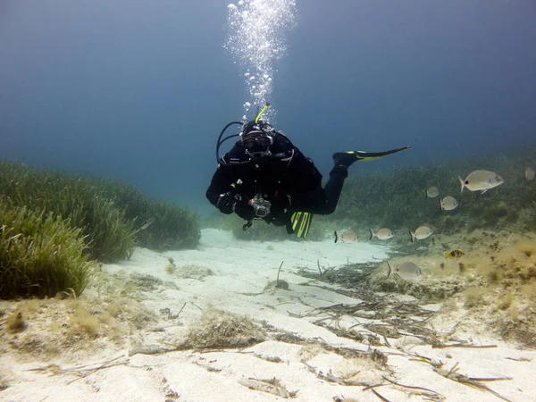
M 197 214 L 134 186 L 0 161 L 0 297 L 78 297 L 97 262 L 200 237 Z

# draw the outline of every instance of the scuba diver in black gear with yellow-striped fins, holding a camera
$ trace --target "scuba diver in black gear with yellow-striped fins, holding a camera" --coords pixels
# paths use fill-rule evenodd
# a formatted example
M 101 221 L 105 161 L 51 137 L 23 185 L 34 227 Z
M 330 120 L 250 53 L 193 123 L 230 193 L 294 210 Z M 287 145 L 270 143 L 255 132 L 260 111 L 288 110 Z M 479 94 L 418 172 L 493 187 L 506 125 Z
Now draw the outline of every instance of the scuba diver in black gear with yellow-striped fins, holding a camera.
M 313 161 L 285 134 L 261 120 L 269 105 L 264 105 L 255 120 L 231 121 L 223 128 L 216 145 L 218 168 L 206 190 L 206 197 L 222 214 L 235 213 L 247 221 L 243 230 L 254 220 L 264 220 L 286 226 L 289 234 L 305 238 L 313 214 L 327 215 L 335 211 L 348 168 L 353 163 L 409 149 L 335 153 L 330 180 L 322 188 L 322 174 Z M 233 124 L 242 125 L 241 132 L 222 139 L 225 130 Z M 223 141 L 238 136 L 240 139 L 234 147 L 220 157 Z

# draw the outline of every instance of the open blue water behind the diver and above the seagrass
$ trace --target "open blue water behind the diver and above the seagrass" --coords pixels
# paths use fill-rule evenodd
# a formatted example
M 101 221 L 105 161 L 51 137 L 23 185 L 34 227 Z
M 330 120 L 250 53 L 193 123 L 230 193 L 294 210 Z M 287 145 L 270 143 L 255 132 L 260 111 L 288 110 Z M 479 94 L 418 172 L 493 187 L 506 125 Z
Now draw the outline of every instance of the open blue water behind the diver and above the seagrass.
M 3 0 L 0 157 L 212 211 L 215 140 L 252 101 L 227 5 Z M 355 174 L 534 146 L 535 16 L 528 1 L 298 1 L 272 122 L 324 175 L 341 150 L 412 146 Z

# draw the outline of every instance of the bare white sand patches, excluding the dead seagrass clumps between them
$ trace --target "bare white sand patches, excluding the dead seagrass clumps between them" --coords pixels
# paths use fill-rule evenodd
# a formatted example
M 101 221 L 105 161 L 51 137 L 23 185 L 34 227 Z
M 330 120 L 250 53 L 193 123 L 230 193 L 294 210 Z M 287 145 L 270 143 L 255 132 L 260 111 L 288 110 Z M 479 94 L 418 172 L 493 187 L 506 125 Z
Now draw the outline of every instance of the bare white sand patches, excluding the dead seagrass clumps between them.
M 507 345 L 490 336 L 471 335 L 471 323 L 465 322 L 462 337 L 472 336 L 478 345 L 497 345 L 497 348 L 431 348 L 420 344 L 419 339 L 389 339 L 391 347 L 379 347 L 388 356 L 387 367 L 374 368 L 366 359 L 344 357 L 319 345 L 334 348 L 353 348 L 370 351 L 368 344 L 352 339 L 339 338 L 313 322 L 325 314 L 298 318 L 295 314 L 311 313 L 315 307 L 339 303 L 359 303 L 356 298 L 342 296 L 331 285 L 298 276 L 299 267 L 317 272 L 329 266 L 364 263 L 386 258 L 386 247 L 379 242 L 354 245 L 337 244 L 332 240 L 311 242 L 242 242 L 232 239 L 229 233 L 220 230 L 203 230 L 201 246 L 197 250 L 176 251 L 158 254 L 147 249 L 138 249 L 131 260 L 123 264 L 105 265 L 107 272 L 149 273 L 164 281 L 174 281 L 179 289 L 160 289 L 145 294 L 144 304 L 155 314 L 169 308 L 174 320 L 162 320 L 160 332 L 133 334 L 139 344 L 166 348 L 172 339 L 188 331 L 201 310 L 214 306 L 230 313 L 246 314 L 255 321 L 265 321 L 278 330 L 290 331 L 311 346 L 267 340 L 246 349 L 219 351 L 169 351 L 158 355 L 136 354 L 129 356 L 131 345 L 125 345 L 113 355 L 88 356 L 86 364 L 98 367 L 105 361 L 118 358 L 114 365 L 88 372 L 83 378 L 73 374 L 47 375 L 28 371 L 30 368 L 54 362 L 18 363 L 13 356 L 2 356 L 2 362 L 12 363 L 11 386 L 0 392 L 5 401 L 275 401 L 283 398 L 262 390 L 249 389 L 242 385 L 248 379 L 281 381 L 281 386 L 296 393 L 297 401 L 359 400 L 379 401 L 371 389 L 363 385 L 347 386 L 328 381 L 329 378 L 348 378 L 355 374 L 358 381 L 367 384 L 388 384 L 391 381 L 412 387 L 431 389 L 446 400 L 452 401 L 499 401 L 503 400 L 490 392 L 449 380 L 436 373 L 431 364 L 411 360 L 409 353 L 427 356 L 450 370 L 456 363 L 457 372 L 469 377 L 508 377 L 508 381 L 483 382 L 490 389 L 511 401 L 536 400 L 536 352 L 524 351 Z M 270 246 L 270 247 L 269 247 Z M 273 248 L 272 250 L 269 248 Z M 197 264 L 210 268 L 213 276 L 202 281 L 178 279 L 165 272 L 168 257 L 172 257 L 180 272 L 181 267 Z M 284 261 L 280 279 L 289 282 L 290 289 L 273 289 L 263 292 L 269 281 L 274 281 L 278 268 Z M 318 261 L 318 263 L 317 263 Z M 306 283 L 309 285 L 306 286 Z M 322 286 L 322 288 L 320 287 Z M 185 306 L 186 303 L 186 306 Z M 161 315 L 162 316 L 162 315 Z M 355 319 L 348 317 L 340 325 L 353 325 Z M 443 331 L 456 323 L 438 322 Z M 440 330 L 436 328 L 436 330 Z M 469 331 L 469 332 L 468 332 Z M 398 348 L 396 348 L 398 346 Z M 373 347 L 376 348 L 376 347 Z M 112 349 L 111 349 L 112 350 Z M 404 352 L 404 353 L 402 353 Z M 280 363 L 269 361 L 281 359 Z M 518 359 L 518 360 L 513 360 Z M 526 361 L 529 360 L 529 361 Z M 66 368 L 62 364 L 62 368 Z M 359 373 L 358 373 L 359 372 Z M 358 374 L 356 374 L 358 373 Z M 330 377 L 331 376 L 331 377 Z M 375 389 L 389 401 L 432 400 L 416 393 L 423 389 L 407 389 L 392 384 Z M 424 391 L 428 392 L 428 391 Z M 433 400 L 444 400 L 435 397 Z

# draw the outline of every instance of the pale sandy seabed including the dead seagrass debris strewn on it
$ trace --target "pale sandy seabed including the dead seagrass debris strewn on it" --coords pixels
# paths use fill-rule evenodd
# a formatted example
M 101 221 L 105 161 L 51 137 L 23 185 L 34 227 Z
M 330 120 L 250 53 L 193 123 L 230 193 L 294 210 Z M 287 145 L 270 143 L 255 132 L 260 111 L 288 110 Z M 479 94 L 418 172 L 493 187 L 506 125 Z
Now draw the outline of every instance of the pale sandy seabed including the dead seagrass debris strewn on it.
M 390 338 L 350 331 L 381 326 L 381 317 L 335 317 L 333 308 L 364 300 L 298 275 L 377 262 L 388 252 L 383 244 L 334 245 L 332 239 L 246 242 L 214 229 L 202 231 L 197 250 L 138 248 L 130 261 L 103 265 L 100 278 L 113 286 L 121 278 L 145 281 L 130 297 L 151 319 L 115 341 L 94 334 L 98 347 L 50 358 L 22 356 L 10 345 L 24 332 L 16 339 L 3 333 L 0 400 L 536 401 L 535 351 L 473 331 L 472 322 L 456 327 L 459 313 L 423 320 L 445 339 L 457 328 L 459 341 L 448 339 L 457 345 L 450 348 L 434 348 L 415 333 Z M 148 284 L 147 275 L 155 281 Z M 100 297 L 105 285 L 99 286 L 80 298 Z M 215 332 L 223 340 L 210 339 Z

